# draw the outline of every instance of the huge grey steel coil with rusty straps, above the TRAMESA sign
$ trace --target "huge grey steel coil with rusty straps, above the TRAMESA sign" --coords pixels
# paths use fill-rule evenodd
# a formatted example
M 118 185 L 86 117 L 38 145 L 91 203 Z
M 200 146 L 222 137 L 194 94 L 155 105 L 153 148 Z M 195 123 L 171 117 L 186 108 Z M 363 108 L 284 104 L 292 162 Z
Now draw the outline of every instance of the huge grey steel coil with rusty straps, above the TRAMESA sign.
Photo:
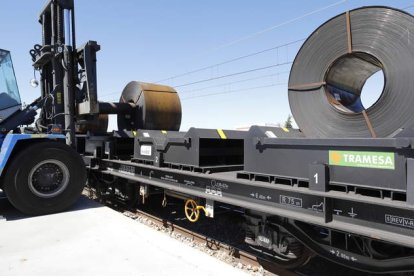
M 292 114 L 307 137 L 393 137 L 414 123 L 414 17 L 363 7 L 320 26 L 298 52 L 289 78 Z M 384 88 L 361 103 L 366 80 Z

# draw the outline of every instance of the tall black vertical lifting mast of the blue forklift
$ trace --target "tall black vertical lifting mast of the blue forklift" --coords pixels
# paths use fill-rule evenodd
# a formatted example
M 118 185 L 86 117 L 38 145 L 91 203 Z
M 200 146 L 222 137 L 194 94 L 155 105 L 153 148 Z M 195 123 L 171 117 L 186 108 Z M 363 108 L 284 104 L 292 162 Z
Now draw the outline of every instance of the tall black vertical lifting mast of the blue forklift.
M 47 99 L 38 128 L 59 125 L 66 143 L 74 147 L 75 124 L 81 115 L 98 114 L 96 52 L 89 41 L 76 48 L 73 0 L 50 0 L 39 16 L 42 45 L 30 51 L 33 67 L 40 72 L 41 97 Z

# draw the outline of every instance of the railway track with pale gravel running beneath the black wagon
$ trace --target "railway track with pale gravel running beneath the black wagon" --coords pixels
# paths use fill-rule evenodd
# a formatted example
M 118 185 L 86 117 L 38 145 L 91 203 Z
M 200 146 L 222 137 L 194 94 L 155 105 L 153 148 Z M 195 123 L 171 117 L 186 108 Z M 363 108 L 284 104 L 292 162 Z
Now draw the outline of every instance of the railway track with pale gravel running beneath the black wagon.
M 116 204 L 115 204 L 116 205 Z M 252 251 L 249 251 L 247 246 L 239 244 L 236 242 L 227 242 L 223 241 L 223 237 L 218 237 L 217 235 L 208 235 L 203 232 L 208 232 L 206 230 L 206 223 L 203 221 L 200 222 L 200 225 L 197 227 L 196 224 L 190 224 L 187 222 L 184 216 L 177 215 L 176 210 L 164 209 L 162 213 L 172 212 L 173 217 L 166 217 L 163 214 L 157 213 L 151 207 L 153 206 L 139 206 L 137 209 L 128 208 L 126 210 L 122 205 L 109 204 L 109 207 L 122 212 L 125 216 L 132 219 L 138 220 L 141 223 L 147 224 L 149 226 L 155 227 L 160 231 L 164 231 L 174 238 L 180 239 L 185 237 L 190 244 L 194 246 L 194 243 L 198 244 L 198 248 L 210 254 L 212 256 L 218 257 L 218 259 L 228 262 L 233 266 L 236 266 L 240 269 L 245 270 L 246 272 L 253 275 L 283 275 L 283 276 L 331 276 L 335 273 L 336 276 L 374 276 L 375 274 L 364 273 L 356 270 L 352 270 L 338 264 L 329 262 L 320 257 L 315 257 L 309 263 L 301 268 L 289 270 L 283 267 L 280 267 L 276 263 L 272 263 L 269 260 L 263 259 L 255 254 Z M 172 204 L 174 207 L 179 207 Z M 159 211 L 159 208 L 157 209 Z M 220 214 L 218 214 L 220 215 Z M 174 220 L 178 220 L 175 222 Z M 204 220 L 204 222 L 208 219 Z M 204 228 L 204 231 L 200 230 Z M 236 235 L 237 236 L 237 235 Z M 226 238 L 224 238 L 225 240 Z M 226 258 L 223 258 L 225 256 Z M 230 260 L 229 260 L 230 259 Z M 414 276 L 414 274 L 405 273 L 405 274 L 384 274 L 385 276 Z

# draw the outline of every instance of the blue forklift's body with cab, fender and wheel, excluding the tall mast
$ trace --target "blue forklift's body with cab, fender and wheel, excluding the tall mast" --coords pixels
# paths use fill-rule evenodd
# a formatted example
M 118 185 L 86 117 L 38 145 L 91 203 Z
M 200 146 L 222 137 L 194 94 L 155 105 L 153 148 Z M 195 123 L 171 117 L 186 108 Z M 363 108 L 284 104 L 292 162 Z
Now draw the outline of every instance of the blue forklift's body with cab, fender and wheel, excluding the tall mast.
M 46 103 L 38 98 L 22 108 L 10 52 L 0 49 L 0 188 L 30 215 L 68 208 L 86 180 L 82 158 L 66 145 L 59 125 L 21 127 L 34 123 Z

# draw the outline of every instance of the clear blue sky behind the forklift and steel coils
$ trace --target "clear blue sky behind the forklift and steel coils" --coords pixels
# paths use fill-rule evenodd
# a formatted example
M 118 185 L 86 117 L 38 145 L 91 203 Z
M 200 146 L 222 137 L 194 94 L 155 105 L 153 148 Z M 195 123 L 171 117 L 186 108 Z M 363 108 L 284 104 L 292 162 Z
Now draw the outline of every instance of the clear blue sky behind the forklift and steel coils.
M 29 50 L 41 42 L 38 15 L 46 2 L 0 0 L 7 11 L 0 48 L 12 52 L 27 104 L 40 95 L 30 86 Z M 117 102 L 132 80 L 158 82 L 178 91 L 182 130 L 278 124 L 290 114 L 287 80 L 303 40 L 331 17 L 369 5 L 414 12 L 414 0 L 75 0 L 77 43 L 101 45 L 100 101 Z M 227 62 L 267 49 L 273 50 Z M 381 73 L 369 80 L 366 102 L 375 102 L 382 85 Z

